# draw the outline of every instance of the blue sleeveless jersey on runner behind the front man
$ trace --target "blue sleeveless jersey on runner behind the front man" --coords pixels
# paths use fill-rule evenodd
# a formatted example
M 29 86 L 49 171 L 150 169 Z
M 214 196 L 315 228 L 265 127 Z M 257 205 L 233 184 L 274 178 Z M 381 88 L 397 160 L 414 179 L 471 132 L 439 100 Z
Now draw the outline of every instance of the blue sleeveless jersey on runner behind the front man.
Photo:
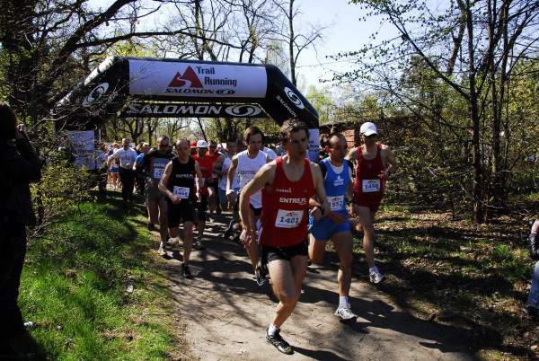
M 346 189 L 350 181 L 348 161 L 343 160 L 342 172 L 340 173 L 333 171 L 329 158 L 324 158 L 320 163 L 324 163 L 327 170 L 323 180 L 323 188 L 328 196 L 331 210 L 333 212 L 346 211 Z

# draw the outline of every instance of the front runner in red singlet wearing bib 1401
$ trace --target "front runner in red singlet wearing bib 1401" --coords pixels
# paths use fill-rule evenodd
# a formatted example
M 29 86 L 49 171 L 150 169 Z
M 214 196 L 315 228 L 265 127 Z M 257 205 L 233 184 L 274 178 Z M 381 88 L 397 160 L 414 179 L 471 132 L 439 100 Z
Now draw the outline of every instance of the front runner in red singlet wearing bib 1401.
M 316 195 L 322 204 L 309 211 L 314 219 L 331 212 L 323 188 L 322 172 L 317 164 L 305 159 L 308 139 L 305 123 L 297 119 L 287 120 L 279 132 L 279 140 L 287 155 L 263 165 L 240 193 L 243 225 L 240 240 L 248 247 L 256 242 L 249 202 L 252 194 L 262 189 L 260 244 L 269 262 L 271 285 L 279 301 L 273 321 L 266 330 L 266 341 L 285 354 L 294 351 L 280 336 L 279 328 L 296 307 L 307 270 L 305 211 L 309 207 L 309 199 Z

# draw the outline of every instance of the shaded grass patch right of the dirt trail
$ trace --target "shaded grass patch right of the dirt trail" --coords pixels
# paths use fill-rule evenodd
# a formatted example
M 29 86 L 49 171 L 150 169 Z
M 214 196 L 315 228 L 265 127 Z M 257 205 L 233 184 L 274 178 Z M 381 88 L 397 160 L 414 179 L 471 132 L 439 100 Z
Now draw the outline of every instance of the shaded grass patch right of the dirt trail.
M 526 248 L 526 219 L 500 216 L 474 225 L 439 205 L 391 201 L 376 217 L 375 257 L 388 276 L 378 288 L 416 317 L 462 330 L 477 357 L 539 357 L 531 348 L 539 343 L 537 322 L 519 311 L 535 265 Z M 367 266 L 358 233 L 354 251 L 362 278 Z

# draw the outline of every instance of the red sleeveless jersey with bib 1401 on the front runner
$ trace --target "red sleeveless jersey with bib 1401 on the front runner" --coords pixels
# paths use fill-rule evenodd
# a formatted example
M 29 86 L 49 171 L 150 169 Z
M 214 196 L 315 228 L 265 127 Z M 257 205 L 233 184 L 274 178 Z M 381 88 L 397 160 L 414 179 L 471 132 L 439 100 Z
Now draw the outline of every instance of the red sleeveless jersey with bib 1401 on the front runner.
M 308 236 L 306 210 L 309 198 L 314 196 L 313 174 L 308 159 L 299 181 L 288 180 L 282 158 L 277 158 L 276 164 L 270 190 L 262 189 L 260 244 L 289 247 L 304 242 Z

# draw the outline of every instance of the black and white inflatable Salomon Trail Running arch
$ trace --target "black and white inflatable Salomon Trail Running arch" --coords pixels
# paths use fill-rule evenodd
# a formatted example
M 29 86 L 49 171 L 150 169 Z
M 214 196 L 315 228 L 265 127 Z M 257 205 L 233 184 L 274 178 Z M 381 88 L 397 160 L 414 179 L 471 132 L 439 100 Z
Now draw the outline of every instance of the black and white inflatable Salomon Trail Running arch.
M 297 118 L 318 158 L 318 113 L 277 66 L 109 57 L 53 110 L 57 128 L 79 132 L 114 117 Z

